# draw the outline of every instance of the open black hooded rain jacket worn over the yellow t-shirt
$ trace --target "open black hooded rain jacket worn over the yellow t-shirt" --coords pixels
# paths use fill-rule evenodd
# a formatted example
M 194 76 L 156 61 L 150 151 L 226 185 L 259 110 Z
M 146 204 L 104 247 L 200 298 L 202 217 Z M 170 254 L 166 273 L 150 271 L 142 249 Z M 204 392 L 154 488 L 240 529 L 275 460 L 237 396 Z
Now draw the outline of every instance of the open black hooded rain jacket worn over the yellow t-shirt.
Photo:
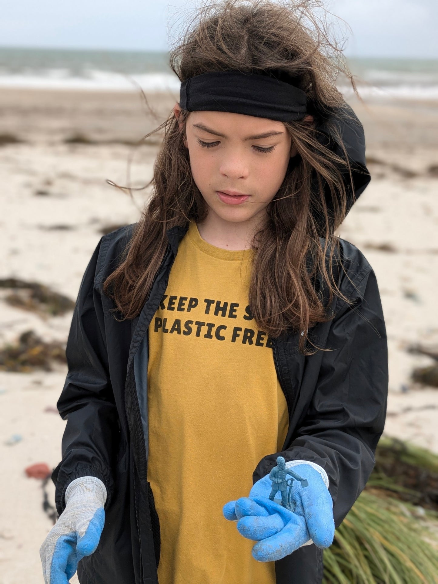
M 349 117 L 334 119 L 358 197 L 370 179 L 362 125 L 352 110 Z M 321 123 L 321 140 L 327 139 L 340 152 L 330 127 Z M 349 195 L 351 206 L 353 193 Z M 108 493 L 99 546 L 78 564 L 81 584 L 158 582 L 159 516 L 147 472 L 148 326 L 187 226 L 167 231 L 167 253 L 141 314 L 132 321 L 116 321 L 114 303 L 102 285 L 120 262 L 132 228 L 104 235 L 83 275 L 66 346 L 68 374 L 57 404 L 66 420 L 62 460 L 52 474 L 58 513 L 65 508 L 65 489 L 73 479 L 92 475 L 104 482 Z M 334 266 L 337 284 L 353 305 L 334 298 L 334 318 L 311 329 L 311 340 L 330 352 L 303 356 L 298 333 L 274 339 L 272 356 L 288 404 L 289 430 L 281 452 L 262 458 L 253 474 L 253 482 L 264 477 L 280 454 L 286 461 L 317 463 L 330 481 L 337 527 L 373 469 L 388 389 L 386 329 L 376 276 L 359 249 L 344 239 L 340 253 L 344 267 L 338 262 Z M 320 584 L 323 551 L 314 544 L 299 548 L 276 561 L 275 571 L 277 584 Z

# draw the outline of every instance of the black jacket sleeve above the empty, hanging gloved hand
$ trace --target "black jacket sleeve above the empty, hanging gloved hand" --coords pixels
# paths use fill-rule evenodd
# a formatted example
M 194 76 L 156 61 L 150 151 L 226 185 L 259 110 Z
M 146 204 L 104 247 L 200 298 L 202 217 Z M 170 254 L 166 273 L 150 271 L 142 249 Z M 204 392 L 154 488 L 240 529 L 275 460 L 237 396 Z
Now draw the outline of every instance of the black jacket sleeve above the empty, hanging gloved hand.
M 65 490 L 73 479 L 99 478 L 107 489 L 105 509 L 114 489 L 113 467 L 118 415 L 108 372 L 103 307 L 94 287 L 100 239 L 85 270 L 66 345 L 68 374 L 57 407 L 66 427 L 62 460 L 52 473 L 58 513 L 65 508 Z

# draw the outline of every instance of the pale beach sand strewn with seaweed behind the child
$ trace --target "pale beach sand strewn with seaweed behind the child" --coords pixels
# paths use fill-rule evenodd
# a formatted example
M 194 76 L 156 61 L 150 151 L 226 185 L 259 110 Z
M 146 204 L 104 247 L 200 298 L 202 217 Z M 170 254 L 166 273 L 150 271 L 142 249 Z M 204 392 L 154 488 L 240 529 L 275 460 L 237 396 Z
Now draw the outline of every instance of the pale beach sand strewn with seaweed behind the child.
M 132 200 L 106 183 L 127 184 L 129 156 L 134 186 L 152 177 L 156 145 L 122 143 L 158 126 L 176 98 L 148 97 L 156 121 L 136 94 L 0 92 L 0 134 L 23 140 L 0 147 L 0 278 L 36 280 L 75 300 L 101 230 L 137 221 L 150 192 Z M 438 163 L 438 110 L 434 103 L 352 105 L 365 126 L 373 180 L 338 233 L 365 253 L 379 283 L 390 363 L 385 433 L 438 453 L 438 390 L 410 379 L 414 367 L 432 361 L 407 352 L 411 343 L 438 347 L 438 179 L 429 172 Z M 97 143 L 65 143 L 78 135 Z M 4 296 L 0 290 L 0 345 L 28 329 L 65 341 L 71 312 L 42 318 Z M 65 422 L 45 408 L 54 408 L 65 374 L 65 366 L 0 372 L 0 584 L 43 582 L 38 549 L 51 522 L 40 481 L 24 468 L 59 462 Z M 12 434 L 22 440 L 8 446 Z

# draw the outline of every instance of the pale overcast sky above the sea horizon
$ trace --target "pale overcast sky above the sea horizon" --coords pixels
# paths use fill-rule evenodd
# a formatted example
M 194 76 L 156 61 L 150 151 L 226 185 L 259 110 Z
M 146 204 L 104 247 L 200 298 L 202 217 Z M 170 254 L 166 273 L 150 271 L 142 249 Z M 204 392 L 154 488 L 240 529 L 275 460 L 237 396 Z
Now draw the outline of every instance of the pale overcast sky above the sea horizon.
M 198 4 L 198 3 L 197 3 Z M 0 45 L 167 50 L 169 26 L 193 0 L 19 0 L 4 2 Z M 327 0 L 344 19 L 346 54 L 438 58 L 437 0 Z

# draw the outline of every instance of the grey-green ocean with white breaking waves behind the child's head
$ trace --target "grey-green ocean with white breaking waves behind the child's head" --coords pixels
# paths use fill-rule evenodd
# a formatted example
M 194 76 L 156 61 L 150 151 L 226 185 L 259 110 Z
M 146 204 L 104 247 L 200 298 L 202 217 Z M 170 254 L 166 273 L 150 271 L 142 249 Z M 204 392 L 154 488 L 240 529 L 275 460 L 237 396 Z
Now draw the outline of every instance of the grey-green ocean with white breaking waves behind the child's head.
M 178 91 L 166 52 L 0 47 L 0 88 Z M 438 99 L 438 59 L 350 58 L 364 97 Z M 347 97 L 345 82 L 339 89 Z

